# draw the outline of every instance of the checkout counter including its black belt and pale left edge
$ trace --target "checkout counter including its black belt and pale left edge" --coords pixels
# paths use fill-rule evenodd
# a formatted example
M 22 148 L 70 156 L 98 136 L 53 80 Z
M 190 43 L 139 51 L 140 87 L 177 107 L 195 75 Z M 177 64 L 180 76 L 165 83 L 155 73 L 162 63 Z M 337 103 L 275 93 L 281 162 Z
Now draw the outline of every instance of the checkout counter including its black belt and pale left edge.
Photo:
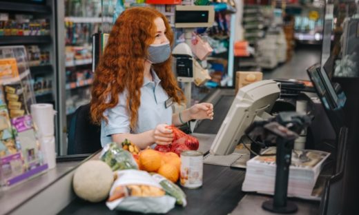
M 216 114 L 213 121 L 200 121 L 195 127 L 193 136 L 199 139 L 200 150 L 209 150 L 234 96 L 233 89 L 216 89 L 204 98 L 213 103 Z M 86 160 L 98 156 L 93 154 Z M 2 191 L 0 214 L 135 214 L 110 211 L 104 202 L 89 203 L 75 196 L 72 176 L 81 156 L 73 158 L 77 161 L 58 159 L 55 169 Z M 244 176 L 244 169 L 204 164 L 203 186 L 195 190 L 182 187 L 188 205 L 176 206 L 168 214 L 272 214 L 261 206 L 272 196 L 242 192 Z M 295 214 L 320 214 L 319 201 L 291 200 L 298 205 Z

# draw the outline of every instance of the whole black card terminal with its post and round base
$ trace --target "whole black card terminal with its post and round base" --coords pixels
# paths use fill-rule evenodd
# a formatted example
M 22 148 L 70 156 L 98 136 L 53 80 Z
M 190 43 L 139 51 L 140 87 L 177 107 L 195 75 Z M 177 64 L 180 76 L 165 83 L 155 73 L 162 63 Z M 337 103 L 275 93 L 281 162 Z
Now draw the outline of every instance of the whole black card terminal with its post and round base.
M 310 116 L 296 112 L 280 112 L 269 121 L 255 121 L 246 130 L 246 134 L 260 136 L 265 145 L 276 143 L 275 190 L 273 200 L 265 201 L 263 209 L 269 212 L 289 214 L 298 210 L 297 205 L 287 201 L 289 166 L 291 153 L 298 134 L 309 125 Z

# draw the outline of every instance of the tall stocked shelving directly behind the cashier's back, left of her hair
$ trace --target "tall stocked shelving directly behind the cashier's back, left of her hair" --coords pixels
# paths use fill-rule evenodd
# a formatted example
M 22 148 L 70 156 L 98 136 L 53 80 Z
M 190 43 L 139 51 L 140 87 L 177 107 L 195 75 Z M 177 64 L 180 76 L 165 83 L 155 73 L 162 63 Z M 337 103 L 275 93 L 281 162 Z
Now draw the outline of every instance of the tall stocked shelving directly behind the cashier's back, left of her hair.
M 57 1 L 59 154 L 67 151 L 67 130 L 77 107 L 90 102 L 92 35 L 102 23 L 101 0 Z

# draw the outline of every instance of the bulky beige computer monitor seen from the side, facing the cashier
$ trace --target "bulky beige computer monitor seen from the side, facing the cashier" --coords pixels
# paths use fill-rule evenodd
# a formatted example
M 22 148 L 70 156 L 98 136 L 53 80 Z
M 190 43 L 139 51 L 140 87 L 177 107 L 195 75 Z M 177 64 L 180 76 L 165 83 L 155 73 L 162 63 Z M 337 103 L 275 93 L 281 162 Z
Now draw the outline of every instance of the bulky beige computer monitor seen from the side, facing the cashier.
M 246 128 L 256 116 L 269 112 L 279 95 L 278 83 L 272 80 L 258 81 L 240 88 L 215 136 L 210 153 L 226 155 L 234 152 Z

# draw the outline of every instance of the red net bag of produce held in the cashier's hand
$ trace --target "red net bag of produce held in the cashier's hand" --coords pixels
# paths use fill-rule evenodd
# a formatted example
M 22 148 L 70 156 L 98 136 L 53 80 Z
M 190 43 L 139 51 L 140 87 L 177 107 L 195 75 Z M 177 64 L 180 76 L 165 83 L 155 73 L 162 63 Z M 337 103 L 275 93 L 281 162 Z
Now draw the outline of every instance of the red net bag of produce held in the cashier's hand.
M 173 130 L 173 141 L 169 145 L 157 145 L 155 150 L 159 152 L 175 152 L 178 156 L 186 150 L 198 150 L 200 142 L 191 135 L 185 134 L 174 125 L 170 126 Z

